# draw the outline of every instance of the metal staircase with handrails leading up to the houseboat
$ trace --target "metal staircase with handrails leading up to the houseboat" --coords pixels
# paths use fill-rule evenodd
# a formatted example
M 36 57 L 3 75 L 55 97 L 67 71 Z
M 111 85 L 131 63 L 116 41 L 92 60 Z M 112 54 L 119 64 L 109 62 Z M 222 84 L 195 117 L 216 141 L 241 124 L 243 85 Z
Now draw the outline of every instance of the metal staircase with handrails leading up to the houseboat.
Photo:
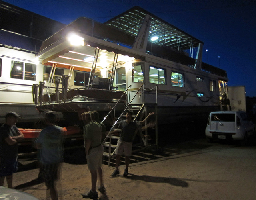
M 130 86 L 127 88 L 127 90 L 129 88 L 130 88 Z M 135 96 L 138 94 L 138 92 L 140 90 L 141 90 L 140 94 L 142 94 L 144 92 L 144 84 L 142 84 L 140 86 L 140 88 L 136 92 Z M 157 94 L 157 92 L 156 92 L 156 94 Z M 132 100 L 134 100 L 135 96 L 132 98 Z M 158 148 L 157 102 L 156 102 L 156 104 L 145 104 L 144 102 L 132 103 L 132 100 L 128 103 L 126 108 L 122 111 L 122 113 L 120 114 L 118 119 L 113 123 L 108 135 L 106 135 L 106 138 L 102 142 L 102 144 L 104 146 L 104 154 L 103 155 L 105 157 L 108 157 L 108 166 L 110 165 L 110 159 L 115 157 L 116 144 L 117 144 L 118 139 L 120 138 L 119 135 L 121 133 L 121 129 L 119 129 L 118 127 L 117 128 L 114 128 L 114 127 L 116 127 L 116 124 L 118 122 L 123 120 L 123 118 L 125 117 L 124 114 L 126 113 L 127 110 L 133 112 L 133 121 L 143 121 L 143 119 L 145 119 L 148 116 L 148 110 L 155 112 L 155 114 L 154 114 L 155 115 L 154 130 L 155 130 L 155 134 L 156 134 L 156 144 L 152 145 L 152 144 L 148 143 L 148 129 L 147 128 L 144 130 L 144 134 L 143 134 L 142 129 L 139 128 L 136 130 L 136 133 L 134 133 L 133 138 L 135 138 L 136 135 L 139 135 L 139 138 L 137 138 L 137 139 L 140 139 L 140 142 L 137 144 L 135 142 L 133 143 L 132 153 L 134 153 L 136 151 L 141 151 L 142 149 L 145 149 L 148 147 L 153 147 L 153 146 Z M 114 110 L 114 108 L 112 108 L 112 110 Z M 112 110 L 110 112 L 112 112 Z M 110 112 L 108 114 L 110 114 Z M 108 114 L 106 115 L 106 117 L 108 116 Z M 106 117 L 102 120 L 102 122 L 106 119 Z M 148 124 L 148 122 L 145 121 L 144 125 L 146 126 L 147 124 Z

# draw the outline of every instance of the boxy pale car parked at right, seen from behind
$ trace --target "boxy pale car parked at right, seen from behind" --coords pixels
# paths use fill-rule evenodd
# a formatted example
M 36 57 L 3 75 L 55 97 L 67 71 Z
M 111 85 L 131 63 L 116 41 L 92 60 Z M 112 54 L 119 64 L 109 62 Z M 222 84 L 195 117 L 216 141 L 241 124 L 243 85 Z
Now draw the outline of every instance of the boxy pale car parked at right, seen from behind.
M 243 111 L 211 112 L 208 118 L 205 135 L 208 142 L 214 139 L 240 140 L 246 145 L 248 137 L 255 132 L 255 125 L 248 121 Z

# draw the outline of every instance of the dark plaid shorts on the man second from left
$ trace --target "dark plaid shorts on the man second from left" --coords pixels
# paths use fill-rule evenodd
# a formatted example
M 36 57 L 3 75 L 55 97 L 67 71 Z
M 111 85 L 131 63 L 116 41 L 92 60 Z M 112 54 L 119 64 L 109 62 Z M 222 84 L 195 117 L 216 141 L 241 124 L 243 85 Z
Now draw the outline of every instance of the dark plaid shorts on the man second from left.
M 60 177 L 60 163 L 42 164 L 40 167 L 47 188 L 54 187 L 54 182 Z

